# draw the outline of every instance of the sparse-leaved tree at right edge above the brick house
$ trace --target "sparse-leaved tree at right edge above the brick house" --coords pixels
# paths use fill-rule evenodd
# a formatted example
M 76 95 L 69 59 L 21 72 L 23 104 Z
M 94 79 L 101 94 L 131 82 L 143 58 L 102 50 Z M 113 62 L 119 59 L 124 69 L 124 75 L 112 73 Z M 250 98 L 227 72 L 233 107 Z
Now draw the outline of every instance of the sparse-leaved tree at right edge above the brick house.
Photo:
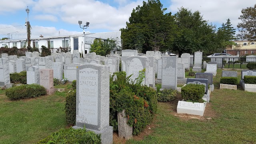
M 256 4 L 254 7 L 247 7 L 241 10 L 242 15 L 238 18 L 242 22 L 237 24 L 241 40 L 256 41 Z

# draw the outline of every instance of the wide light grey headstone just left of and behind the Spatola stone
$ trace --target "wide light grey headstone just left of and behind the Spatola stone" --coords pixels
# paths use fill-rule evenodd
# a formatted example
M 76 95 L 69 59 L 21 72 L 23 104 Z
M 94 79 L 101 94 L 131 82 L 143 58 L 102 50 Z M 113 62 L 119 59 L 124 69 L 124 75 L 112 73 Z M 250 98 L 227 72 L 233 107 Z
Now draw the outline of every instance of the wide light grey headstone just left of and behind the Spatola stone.
M 76 80 L 76 69 L 81 64 L 64 64 L 64 78 L 67 78 L 69 82 Z

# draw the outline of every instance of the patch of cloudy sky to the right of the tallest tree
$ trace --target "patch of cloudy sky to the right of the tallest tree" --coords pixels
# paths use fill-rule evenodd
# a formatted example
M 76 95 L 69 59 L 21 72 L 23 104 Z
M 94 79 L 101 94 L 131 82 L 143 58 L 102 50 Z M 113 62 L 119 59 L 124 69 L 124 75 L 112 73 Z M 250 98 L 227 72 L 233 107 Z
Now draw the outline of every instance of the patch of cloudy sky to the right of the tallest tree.
M 236 28 L 238 17 L 242 14 L 242 8 L 254 6 L 253 0 L 171 0 L 170 11 L 175 14 L 178 8 L 184 7 L 193 12 L 198 10 L 205 20 L 212 23 L 226 23 L 229 18 L 232 26 Z

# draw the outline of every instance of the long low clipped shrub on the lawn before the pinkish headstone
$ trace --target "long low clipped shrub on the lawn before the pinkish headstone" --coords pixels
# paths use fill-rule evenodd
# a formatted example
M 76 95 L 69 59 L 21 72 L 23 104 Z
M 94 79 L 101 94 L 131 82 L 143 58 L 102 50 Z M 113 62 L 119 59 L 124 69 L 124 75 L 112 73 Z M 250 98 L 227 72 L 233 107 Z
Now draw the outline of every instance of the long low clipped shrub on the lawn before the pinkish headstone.
M 24 84 L 6 89 L 5 94 L 10 100 L 18 100 L 45 95 L 46 90 L 39 84 Z

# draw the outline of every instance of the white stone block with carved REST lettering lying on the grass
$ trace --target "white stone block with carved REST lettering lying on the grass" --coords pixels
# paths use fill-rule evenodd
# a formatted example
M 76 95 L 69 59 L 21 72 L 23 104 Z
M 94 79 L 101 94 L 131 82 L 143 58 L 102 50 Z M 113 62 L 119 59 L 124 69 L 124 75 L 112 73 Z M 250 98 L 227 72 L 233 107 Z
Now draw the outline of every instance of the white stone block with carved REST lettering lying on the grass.
M 206 101 L 206 98 L 203 98 Z M 184 100 L 178 101 L 177 113 L 178 114 L 194 114 L 198 116 L 204 115 L 204 110 L 207 102 L 186 102 Z

